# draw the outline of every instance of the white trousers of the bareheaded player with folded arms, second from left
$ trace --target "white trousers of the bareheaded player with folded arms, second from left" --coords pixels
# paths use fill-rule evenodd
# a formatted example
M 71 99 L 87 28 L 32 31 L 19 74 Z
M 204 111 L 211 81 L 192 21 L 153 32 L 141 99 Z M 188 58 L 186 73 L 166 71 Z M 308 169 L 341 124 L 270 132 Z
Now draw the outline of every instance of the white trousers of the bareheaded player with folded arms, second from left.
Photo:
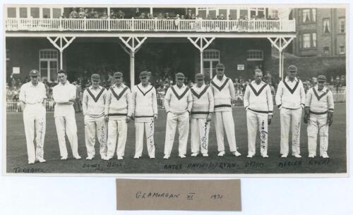
M 59 140 L 60 156 L 67 157 L 65 132 L 70 142 L 73 157 L 78 157 L 77 125 L 75 116 L 55 117 L 56 134 Z

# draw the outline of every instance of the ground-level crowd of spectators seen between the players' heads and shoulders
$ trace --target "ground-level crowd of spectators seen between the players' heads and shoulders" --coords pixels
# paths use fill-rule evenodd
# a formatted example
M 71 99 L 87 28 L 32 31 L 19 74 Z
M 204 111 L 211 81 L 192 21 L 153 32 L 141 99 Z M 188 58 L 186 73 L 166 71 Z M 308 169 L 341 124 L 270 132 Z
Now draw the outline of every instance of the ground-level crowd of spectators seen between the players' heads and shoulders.
M 111 70 L 108 73 L 103 73 L 101 75 L 102 82 L 101 85 L 103 87 L 106 87 L 109 89 L 112 85 L 115 83 L 115 79 L 113 77 L 114 73 L 114 68 L 111 68 Z M 91 85 L 90 83 L 90 74 L 84 73 L 86 75 L 82 75 L 73 82 L 71 82 L 73 85 L 76 85 L 76 102 L 74 104 L 76 112 L 82 111 L 82 97 L 83 97 L 83 90 L 85 90 L 86 87 L 89 87 Z M 171 85 L 174 85 L 174 73 L 152 73 L 150 82 L 153 86 L 155 86 L 155 89 L 157 91 L 157 96 L 162 100 L 164 97 L 164 94 L 167 92 L 168 88 Z M 6 101 L 12 101 L 10 104 L 12 106 L 13 110 L 20 111 L 20 105 L 19 105 L 19 94 L 20 94 L 20 87 L 23 83 L 29 82 L 29 78 L 25 78 L 25 80 L 20 80 L 20 79 L 15 79 L 11 78 L 10 81 L 6 82 Z M 241 76 L 238 78 L 234 78 L 232 80 L 234 82 L 234 90 L 236 93 L 236 100 L 237 102 L 242 102 L 243 101 L 243 96 L 244 92 L 246 89 L 246 86 L 251 83 L 251 79 L 244 79 Z M 270 85 L 271 92 L 274 95 L 276 90 L 277 90 L 277 84 L 280 80 L 275 80 L 275 78 L 270 75 L 270 73 L 265 73 L 263 76 L 263 81 L 266 82 L 268 85 Z M 45 78 L 42 80 L 44 83 L 46 90 L 47 90 L 47 99 L 49 101 L 49 106 L 52 105 L 52 87 L 57 85 L 58 82 L 48 82 Z M 304 85 L 304 90 L 307 92 L 311 87 L 315 86 L 317 84 L 317 79 L 316 77 L 309 78 L 302 80 L 303 85 Z M 124 82 L 125 85 L 129 85 L 128 82 Z M 186 78 L 185 84 L 188 85 L 188 87 L 193 86 L 193 80 Z M 210 79 L 205 78 L 205 84 L 210 85 Z M 337 75 L 335 78 L 331 77 L 328 79 L 327 87 L 336 93 L 342 93 L 345 91 L 345 85 L 346 85 L 346 80 L 345 80 L 345 75 Z M 9 105 L 9 104 L 8 104 Z

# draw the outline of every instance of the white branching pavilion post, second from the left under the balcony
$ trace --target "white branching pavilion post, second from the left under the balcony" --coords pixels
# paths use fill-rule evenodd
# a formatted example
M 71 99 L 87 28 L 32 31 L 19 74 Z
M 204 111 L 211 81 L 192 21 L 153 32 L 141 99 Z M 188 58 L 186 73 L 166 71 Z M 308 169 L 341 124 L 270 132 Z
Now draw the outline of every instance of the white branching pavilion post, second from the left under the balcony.
M 130 56 L 130 87 L 135 85 L 135 54 L 147 37 L 119 37 L 124 45 L 120 44 L 124 51 Z

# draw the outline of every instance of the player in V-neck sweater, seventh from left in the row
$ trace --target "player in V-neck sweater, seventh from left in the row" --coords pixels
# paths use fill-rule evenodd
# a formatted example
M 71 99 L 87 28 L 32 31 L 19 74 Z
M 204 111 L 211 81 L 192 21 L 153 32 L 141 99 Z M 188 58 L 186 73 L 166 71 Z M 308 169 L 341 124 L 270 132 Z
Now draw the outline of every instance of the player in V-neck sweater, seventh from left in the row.
M 204 83 L 205 76 L 195 75 L 196 85 L 191 87 L 193 107 L 191 109 L 191 156 L 208 156 L 208 134 L 212 120 L 214 101 L 213 92 Z

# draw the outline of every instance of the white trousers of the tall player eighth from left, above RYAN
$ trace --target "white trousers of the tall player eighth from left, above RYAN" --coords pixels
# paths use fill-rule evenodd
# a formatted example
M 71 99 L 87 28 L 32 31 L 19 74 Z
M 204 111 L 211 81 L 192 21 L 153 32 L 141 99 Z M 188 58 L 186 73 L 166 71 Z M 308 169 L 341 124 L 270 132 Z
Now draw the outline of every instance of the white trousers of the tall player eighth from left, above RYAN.
M 225 129 L 225 133 L 227 135 L 230 152 L 237 151 L 232 111 L 215 112 L 215 130 L 218 152 L 225 151 L 225 137 L 223 129 Z

